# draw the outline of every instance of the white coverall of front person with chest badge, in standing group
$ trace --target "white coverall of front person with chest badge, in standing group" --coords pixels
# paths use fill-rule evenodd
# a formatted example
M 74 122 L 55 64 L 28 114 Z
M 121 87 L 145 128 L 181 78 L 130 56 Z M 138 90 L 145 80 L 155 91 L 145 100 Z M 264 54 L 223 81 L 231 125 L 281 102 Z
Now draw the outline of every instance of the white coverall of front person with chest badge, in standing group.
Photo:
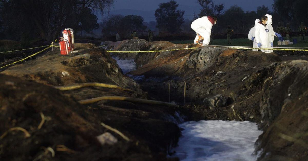
M 270 30 L 267 29 L 263 24 L 257 23 L 256 26 L 254 26 L 254 36 L 255 40 L 258 43 L 261 43 L 261 48 L 270 48 L 270 41 L 269 41 L 269 33 Z M 270 53 L 269 50 L 261 50 L 265 53 Z

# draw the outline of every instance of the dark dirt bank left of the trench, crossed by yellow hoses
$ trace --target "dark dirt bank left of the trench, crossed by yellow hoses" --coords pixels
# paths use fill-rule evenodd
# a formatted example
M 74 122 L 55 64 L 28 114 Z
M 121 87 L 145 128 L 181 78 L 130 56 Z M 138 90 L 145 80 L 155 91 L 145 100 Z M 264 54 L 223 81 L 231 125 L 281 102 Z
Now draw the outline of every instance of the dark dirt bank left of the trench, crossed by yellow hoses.
M 180 136 L 180 128 L 175 124 L 179 120 L 177 109 L 122 101 L 79 105 L 76 100 L 101 96 L 148 96 L 135 81 L 122 74 L 104 49 L 92 44 L 75 47 L 75 56 L 60 56 L 59 50 L 55 50 L 2 72 L 20 79 L 0 76 L 0 134 L 18 126 L 26 129 L 30 137 L 25 139 L 19 131 L 9 132 L 0 140 L 0 159 L 172 160 L 166 158 L 166 153 L 172 152 Z M 50 87 L 85 82 L 108 83 L 130 90 L 86 87 L 60 92 Z M 40 113 L 47 119 L 38 130 Z M 131 141 L 104 128 L 101 122 L 118 129 Z M 101 145 L 96 137 L 109 136 L 105 132 L 110 132 L 118 142 Z

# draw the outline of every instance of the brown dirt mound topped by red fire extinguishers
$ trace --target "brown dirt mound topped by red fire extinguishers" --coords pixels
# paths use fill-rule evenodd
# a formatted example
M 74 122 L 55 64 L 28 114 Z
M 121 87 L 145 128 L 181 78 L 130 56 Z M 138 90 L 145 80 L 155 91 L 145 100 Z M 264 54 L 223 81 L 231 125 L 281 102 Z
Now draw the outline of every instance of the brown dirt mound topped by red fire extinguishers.
M 38 59 L 10 67 L 2 74 L 54 86 L 104 82 L 138 89 L 136 82 L 122 74 L 116 60 L 108 52 L 94 47 L 93 44 L 75 44 L 75 56 L 61 56 L 58 49 Z

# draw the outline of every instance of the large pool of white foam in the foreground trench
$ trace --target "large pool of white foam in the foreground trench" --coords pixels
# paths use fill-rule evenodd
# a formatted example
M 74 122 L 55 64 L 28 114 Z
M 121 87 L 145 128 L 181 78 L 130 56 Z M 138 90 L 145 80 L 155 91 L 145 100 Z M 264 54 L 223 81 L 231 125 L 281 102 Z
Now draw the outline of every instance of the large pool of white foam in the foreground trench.
M 185 161 L 255 161 L 254 143 L 262 131 L 249 121 L 189 121 L 173 156 Z

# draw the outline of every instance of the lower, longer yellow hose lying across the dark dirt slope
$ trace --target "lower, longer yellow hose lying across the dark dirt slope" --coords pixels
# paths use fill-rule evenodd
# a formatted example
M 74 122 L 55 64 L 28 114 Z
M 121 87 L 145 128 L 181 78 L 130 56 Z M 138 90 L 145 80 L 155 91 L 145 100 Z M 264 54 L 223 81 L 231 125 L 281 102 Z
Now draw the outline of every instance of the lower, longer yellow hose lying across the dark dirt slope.
M 164 106 L 172 106 L 177 107 L 178 105 L 174 105 L 172 103 L 167 102 L 161 102 L 161 101 L 153 101 L 153 100 L 146 100 L 146 99 L 140 99 L 140 98 L 132 98 L 132 97 L 122 97 L 122 96 L 104 96 L 104 97 L 97 97 L 97 98 L 91 98 L 86 100 L 78 101 L 80 104 L 91 104 L 98 101 L 107 100 L 107 101 L 128 101 L 128 102 L 134 102 L 134 103 L 144 103 L 144 104 L 152 104 L 152 105 L 164 105 Z

